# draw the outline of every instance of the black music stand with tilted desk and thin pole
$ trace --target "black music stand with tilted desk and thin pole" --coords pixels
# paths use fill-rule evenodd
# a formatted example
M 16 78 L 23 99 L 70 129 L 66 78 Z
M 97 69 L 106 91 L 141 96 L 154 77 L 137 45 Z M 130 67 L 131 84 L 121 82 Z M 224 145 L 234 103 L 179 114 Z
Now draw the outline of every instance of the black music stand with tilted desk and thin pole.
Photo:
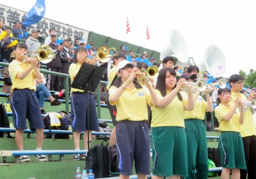
M 90 138 L 89 138 L 89 91 L 94 93 L 101 78 L 104 76 L 107 69 L 101 68 L 99 66 L 90 65 L 88 63 L 83 63 L 79 71 L 74 78 L 73 83 L 71 84 L 72 88 L 79 90 L 85 90 L 87 93 L 87 132 L 88 132 L 88 150 L 90 149 Z M 99 104 L 98 104 L 99 105 Z

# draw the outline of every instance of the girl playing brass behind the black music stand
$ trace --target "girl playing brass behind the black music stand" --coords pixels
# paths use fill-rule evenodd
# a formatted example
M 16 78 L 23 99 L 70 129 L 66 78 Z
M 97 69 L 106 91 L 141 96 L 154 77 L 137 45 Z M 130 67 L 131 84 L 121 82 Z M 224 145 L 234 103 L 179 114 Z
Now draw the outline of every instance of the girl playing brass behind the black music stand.
M 85 47 L 79 46 L 74 52 L 74 58 L 72 64 L 69 66 L 69 75 L 71 78 L 71 82 L 73 82 L 76 77 L 77 72 L 83 63 L 95 64 L 96 57 L 87 58 L 87 50 Z M 87 96 L 88 94 L 88 96 Z M 87 99 L 88 98 L 88 99 Z M 87 101 L 89 104 L 87 104 Z M 90 108 L 89 110 L 89 128 L 85 125 L 87 124 L 87 111 L 85 108 L 87 106 Z M 74 138 L 74 147 L 75 150 L 80 150 L 80 133 L 85 132 L 86 130 L 90 131 L 90 141 L 91 141 L 91 131 L 99 130 L 98 116 L 96 112 L 96 102 L 94 100 L 93 93 L 85 93 L 84 90 L 78 90 L 76 88 L 71 88 L 71 120 L 73 121 L 72 129 L 73 129 L 73 138 Z M 88 150 L 88 133 L 85 132 L 84 136 L 84 149 Z M 74 160 L 80 160 L 80 155 L 74 155 Z M 85 160 L 85 155 L 82 155 L 82 159 Z

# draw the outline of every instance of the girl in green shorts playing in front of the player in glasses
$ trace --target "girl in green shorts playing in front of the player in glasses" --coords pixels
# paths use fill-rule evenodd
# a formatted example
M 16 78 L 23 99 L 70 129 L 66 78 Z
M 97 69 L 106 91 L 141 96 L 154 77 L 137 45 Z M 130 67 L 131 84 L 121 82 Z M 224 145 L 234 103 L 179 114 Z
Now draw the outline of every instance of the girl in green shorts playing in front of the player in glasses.
M 222 172 L 221 178 L 240 178 L 240 169 L 246 169 L 243 141 L 240 133 L 243 131 L 241 124 L 244 122 L 244 111 L 237 107 L 240 97 L 236 97 L 235 104 L 230 105 L 231 91 L 229 88 L 219 88 L 215 116 L 219 121 L 219 152 L 221 153 Z

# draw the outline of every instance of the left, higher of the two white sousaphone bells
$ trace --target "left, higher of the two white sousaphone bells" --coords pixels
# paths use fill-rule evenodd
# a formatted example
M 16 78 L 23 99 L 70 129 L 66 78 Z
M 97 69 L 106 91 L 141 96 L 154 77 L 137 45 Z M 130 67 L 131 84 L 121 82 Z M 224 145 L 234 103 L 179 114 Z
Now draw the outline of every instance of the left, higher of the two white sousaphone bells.
M 179 61 L 179 63 L 186 63 L 188 61 L 188 47 L 187 44 L 182 37 L 182 35 L 175 29 L 172 29 L 169 33 L 169 45 L 164 47 L 162 52 L 160 53 L 160 60 L 167 56 L 175 56 Z

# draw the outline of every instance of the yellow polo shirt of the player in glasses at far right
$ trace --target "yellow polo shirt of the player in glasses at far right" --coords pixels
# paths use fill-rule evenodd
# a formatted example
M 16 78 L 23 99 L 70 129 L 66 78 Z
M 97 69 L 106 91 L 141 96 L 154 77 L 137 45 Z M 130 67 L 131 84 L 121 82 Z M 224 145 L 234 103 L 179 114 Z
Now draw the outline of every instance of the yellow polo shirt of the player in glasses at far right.
M 240 97 L 242 100 L 247 100 L 246 96 L 244 94 L 236 94 L 231 91 L 232 94 L 232 100 L 235 100 L 236 97 Z M 252 112 L 249 108 L 244 112 L 244 123 L 242 124 L 243 127 L 243 132 L 241 132 L 241 136 L 247 137 L 247 136 L 252 136 L 256 135 L 256 128 L 254 125 L 254 118 L 252 116 Z

